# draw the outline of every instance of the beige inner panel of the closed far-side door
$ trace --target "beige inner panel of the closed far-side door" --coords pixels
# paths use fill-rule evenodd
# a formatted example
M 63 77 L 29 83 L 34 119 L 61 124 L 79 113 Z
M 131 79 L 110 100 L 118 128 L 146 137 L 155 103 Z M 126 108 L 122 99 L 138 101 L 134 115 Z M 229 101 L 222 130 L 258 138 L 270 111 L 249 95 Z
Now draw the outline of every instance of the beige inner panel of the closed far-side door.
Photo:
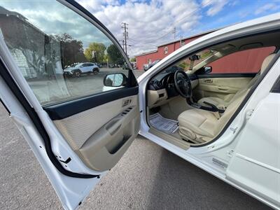
M 194 90 L 197 99 L 203 97 L 218 97 L 229 101 L 235 93 L 244 87 L 255 76 L 250 74 L 209 74 L 207 76 L 198 76 L 199 85 Z

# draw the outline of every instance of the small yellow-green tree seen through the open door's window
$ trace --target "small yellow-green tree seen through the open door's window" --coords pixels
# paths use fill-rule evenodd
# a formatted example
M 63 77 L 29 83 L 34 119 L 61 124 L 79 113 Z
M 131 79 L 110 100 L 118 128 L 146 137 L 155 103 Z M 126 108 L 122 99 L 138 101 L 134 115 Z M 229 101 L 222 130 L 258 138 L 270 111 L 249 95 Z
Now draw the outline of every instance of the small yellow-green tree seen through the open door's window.
M 104 62 L 106 46 L 104 43 L 93 42 L 85 49 L 85 57 L 89 62 Z

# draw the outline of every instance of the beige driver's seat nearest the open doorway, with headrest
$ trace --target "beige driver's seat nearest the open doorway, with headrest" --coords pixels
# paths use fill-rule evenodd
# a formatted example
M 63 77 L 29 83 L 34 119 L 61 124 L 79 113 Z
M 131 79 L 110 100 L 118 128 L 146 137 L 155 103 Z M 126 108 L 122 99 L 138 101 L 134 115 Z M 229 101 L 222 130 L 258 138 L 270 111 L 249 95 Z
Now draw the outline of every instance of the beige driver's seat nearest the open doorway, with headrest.
M 261 71 L 266 69 L 269 62 L 275 54 L 269 55 L 262 62 Z M 258 76 L 252 79 L 252 83 L 258 79 Z M 205 111 L 202 109 L 190 109 L 183 111 L 178 117 L 179 134 L 183 139 L 193 141 L 200 144 L 209 141 L 223 129 L 233 113 L 237 110 L 239 104 L 244 100 L 246 94 L 251 89 L 253 84 L 246 85 L 242 90 L 235 94 L 234 99 L 225 112 L 220 116 L 218 113 Z

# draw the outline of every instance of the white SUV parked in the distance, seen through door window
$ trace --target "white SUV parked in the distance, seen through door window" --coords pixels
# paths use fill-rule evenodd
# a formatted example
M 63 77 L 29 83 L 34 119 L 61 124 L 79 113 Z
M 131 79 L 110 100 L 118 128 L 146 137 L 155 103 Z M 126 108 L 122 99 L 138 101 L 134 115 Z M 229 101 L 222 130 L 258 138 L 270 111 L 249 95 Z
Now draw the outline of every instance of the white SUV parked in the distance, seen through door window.
M 65 76 L 75 76 L 80 77 L 82 73 L 99 73 L 99 67 L 94 63 L 80 63 L 80 64 L 72 64 L 63 70 Z

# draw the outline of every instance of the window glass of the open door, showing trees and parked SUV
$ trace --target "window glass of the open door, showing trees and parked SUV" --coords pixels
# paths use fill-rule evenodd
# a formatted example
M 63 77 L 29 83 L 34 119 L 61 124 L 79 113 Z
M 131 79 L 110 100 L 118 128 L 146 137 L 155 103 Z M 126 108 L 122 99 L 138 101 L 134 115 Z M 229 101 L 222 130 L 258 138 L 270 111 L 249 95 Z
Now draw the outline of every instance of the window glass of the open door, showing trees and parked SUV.
M 0 29 L 42 105 L 112 90 L 104 88 L 106 74 L 128 75 L 116 45 L 57 1 L 2 1 Z

